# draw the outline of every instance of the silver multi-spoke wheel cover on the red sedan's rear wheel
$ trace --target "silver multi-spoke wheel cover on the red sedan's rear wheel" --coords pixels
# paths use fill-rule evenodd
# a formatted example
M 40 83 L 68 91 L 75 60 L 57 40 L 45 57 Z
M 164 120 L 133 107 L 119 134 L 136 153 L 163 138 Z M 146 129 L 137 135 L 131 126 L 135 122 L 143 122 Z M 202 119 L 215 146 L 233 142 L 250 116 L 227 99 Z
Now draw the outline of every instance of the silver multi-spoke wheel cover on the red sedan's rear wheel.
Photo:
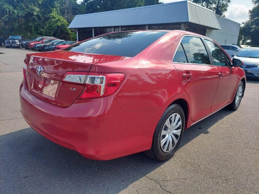
M 160 146 L 163 152 L 169 152 L 176 146 L 181 130 L 181 116 L 178 113 L 173 113 L 167 118 L 161 131 Z

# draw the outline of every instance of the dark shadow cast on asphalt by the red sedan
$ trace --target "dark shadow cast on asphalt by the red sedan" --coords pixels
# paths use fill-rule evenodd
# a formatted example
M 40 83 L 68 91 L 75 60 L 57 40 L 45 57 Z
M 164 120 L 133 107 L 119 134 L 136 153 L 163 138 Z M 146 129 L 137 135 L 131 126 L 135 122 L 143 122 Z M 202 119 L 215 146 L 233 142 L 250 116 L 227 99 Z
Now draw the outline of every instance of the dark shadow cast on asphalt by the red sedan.
M 184 132 L 179 149 L 232 111 L 222 109 Z M 85 159 L 32 128 L 0 136 L 0 193 L 118 193 L 165 162 L 144 153 L 114 160 Z

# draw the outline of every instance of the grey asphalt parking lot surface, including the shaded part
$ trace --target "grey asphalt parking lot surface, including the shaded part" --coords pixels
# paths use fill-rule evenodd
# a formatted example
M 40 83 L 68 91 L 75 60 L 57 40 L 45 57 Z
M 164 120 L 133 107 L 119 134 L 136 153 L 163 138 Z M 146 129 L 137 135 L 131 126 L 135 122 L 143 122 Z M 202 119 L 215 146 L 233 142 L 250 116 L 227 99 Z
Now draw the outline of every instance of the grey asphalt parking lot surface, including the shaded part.
M 259 81 L 247 80 L 237 111 L 224 108 L 186 130 L 169 161 L 144 153 L 94 161 L 22 118 L 19 86 L 31 52 L 0 47 L 0 193 L 259 192 Z

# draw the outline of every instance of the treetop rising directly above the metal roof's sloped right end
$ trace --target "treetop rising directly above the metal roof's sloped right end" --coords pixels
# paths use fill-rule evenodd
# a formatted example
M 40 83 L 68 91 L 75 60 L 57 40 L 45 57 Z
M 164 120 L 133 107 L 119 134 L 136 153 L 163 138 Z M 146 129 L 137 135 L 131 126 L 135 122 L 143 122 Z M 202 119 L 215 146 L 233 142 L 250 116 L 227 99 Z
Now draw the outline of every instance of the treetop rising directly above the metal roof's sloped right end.
M 215 14 L 224 16 L 224 12 L 228 9 L 228 3 L 230 0 L 191 0 L 193 3 L 197 3 L 208 9 L 212 9 Z

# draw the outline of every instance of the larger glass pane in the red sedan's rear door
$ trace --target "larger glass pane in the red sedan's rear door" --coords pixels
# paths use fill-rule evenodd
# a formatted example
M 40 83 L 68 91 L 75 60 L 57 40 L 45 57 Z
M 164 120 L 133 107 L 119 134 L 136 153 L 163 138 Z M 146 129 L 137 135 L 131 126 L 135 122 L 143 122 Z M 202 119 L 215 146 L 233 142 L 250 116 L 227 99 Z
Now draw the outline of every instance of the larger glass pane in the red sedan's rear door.
M 189 63 L 210 65 L 210 58 L 201 38 L 183 37 L 181 43 Z

